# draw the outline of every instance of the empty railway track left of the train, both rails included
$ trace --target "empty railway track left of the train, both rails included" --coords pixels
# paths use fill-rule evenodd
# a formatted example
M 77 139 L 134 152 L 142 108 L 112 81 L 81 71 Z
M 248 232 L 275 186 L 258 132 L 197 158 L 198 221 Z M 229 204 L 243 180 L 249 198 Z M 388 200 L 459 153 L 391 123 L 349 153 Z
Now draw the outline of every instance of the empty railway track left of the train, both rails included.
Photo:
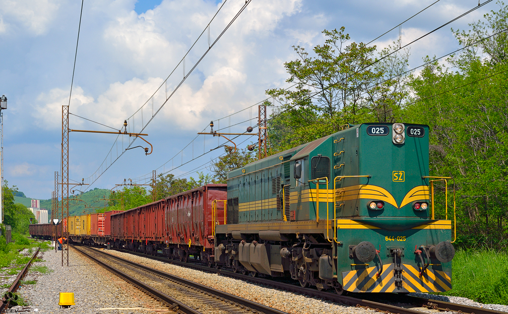
M 100 250 L 83 246 L 73 247 L 86 257 L 130 281 L 158 301 L 166 303 L 173 311 L 186 314 L 284 314 L 265 305 L 115 257 Z

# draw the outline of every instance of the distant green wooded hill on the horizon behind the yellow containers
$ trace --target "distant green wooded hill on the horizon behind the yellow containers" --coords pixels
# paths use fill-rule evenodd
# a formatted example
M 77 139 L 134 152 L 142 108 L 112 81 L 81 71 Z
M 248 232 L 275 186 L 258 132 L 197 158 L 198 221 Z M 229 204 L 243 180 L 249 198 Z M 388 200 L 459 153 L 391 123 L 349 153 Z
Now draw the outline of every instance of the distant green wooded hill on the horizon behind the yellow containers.
M 21 192 L 21 194 L 23 194 Z M 88 192 L 83 193 L 82 195 L 77 196 L 76 198 L 81 201 L 74 201 L 71 200 L 69 203 L 69 215 L 70 216 L 76 216 L 83 214 L 83 211 L 85 213 L 93 213 L 95 212 L 96 208 L 103 208 L 107 201 L 100 201 L 100 199 L 109 198 L 110 191 L 106 189 L 94 189 Z M 24 194 L 23 194 L 24 195 Z M 105 197 L 104 197 L 105 196 Z M 14 203 L 20 203 L 25 205 L 26 207 L 31 206 L 31 198 L 27 197 L 20 197 L 20 196 L 14 196 Z M 41 201 L 41 208 L 48 210 L 48 216 L 51 216 L 51 199 L 48 200 L 40 200 Z M 85 203 L 87 208 L 85 208 Z

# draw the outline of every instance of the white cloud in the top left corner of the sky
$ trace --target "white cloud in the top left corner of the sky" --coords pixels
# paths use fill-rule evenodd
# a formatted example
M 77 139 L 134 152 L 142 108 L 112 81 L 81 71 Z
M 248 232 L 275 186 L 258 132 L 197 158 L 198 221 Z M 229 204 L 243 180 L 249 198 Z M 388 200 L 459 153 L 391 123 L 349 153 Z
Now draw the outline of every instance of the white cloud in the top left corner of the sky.
M 0 0 L 0 14 L 4 18 L 12 17 L 12 23 L 20 24 L 31 34 L 43 35 L 56 17 L 61 2 L 61 0 Z M 0 32 L 2 23 L 5 22 L 0 22 Z

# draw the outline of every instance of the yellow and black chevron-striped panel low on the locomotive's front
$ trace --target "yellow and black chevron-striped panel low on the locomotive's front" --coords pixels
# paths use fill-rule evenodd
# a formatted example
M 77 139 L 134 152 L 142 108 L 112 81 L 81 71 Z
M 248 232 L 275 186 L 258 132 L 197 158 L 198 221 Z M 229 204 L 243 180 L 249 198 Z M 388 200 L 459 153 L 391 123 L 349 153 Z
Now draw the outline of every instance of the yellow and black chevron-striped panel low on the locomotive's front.
M 384 265 L 377 276 L 378 266 L 342 272 L 342 286 L 351 292 L 444 292 L 452 289 L 449 273 L 426 269 L 420 275 L 419 269 L 402 264 L 401 284 L 396 284 L 395 264 Z

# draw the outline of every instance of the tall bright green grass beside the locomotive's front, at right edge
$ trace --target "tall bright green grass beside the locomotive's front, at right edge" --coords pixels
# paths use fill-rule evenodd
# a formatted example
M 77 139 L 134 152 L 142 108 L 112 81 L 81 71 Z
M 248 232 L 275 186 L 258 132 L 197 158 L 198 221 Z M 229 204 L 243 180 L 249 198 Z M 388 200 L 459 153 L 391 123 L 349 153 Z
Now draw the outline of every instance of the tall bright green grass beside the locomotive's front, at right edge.
M 452 269 L 453 288 L 443 295 L 508 305 L 508 254 L 505 252 L 457 250 Z

